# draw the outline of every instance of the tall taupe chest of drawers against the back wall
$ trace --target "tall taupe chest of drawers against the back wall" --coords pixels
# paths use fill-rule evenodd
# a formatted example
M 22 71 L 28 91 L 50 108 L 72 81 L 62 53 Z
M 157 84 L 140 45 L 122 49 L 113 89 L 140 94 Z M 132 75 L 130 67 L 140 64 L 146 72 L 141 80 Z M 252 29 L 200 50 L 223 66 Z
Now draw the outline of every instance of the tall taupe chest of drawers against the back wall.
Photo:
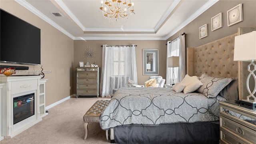
M 76 68 L 76 98 L 100 95 L 100 68 Z

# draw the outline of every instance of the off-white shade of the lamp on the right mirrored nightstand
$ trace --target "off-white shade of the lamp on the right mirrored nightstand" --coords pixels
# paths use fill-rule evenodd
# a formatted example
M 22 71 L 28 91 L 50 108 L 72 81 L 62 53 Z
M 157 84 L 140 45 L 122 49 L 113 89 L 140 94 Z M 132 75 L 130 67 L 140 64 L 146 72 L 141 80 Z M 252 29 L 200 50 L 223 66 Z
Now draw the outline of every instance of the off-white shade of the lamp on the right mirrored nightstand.
M 256 31 L 235 36 L 234 60 L 256 60 Z

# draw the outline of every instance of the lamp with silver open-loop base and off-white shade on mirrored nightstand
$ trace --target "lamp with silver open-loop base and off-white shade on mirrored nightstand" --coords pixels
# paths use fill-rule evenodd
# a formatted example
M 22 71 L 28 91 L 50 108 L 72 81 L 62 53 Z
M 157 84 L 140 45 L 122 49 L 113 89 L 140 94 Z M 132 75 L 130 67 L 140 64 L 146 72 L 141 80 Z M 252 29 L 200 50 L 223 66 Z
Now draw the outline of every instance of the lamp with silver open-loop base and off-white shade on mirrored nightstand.
M 256 66 L 254 61 L 256 60 L 256 31 L 242 34 L 240 36 L 235 36 L 234 45 L 234 61 L 247 61 L 250 62 L 248 65 L 248 71 L 250 74 L 246 80 L 246 88 L 249 92 L 246 100 L 242 100 L 250 104 L 252 107 L 256 107 L 256 98 L 254 96 L 256 92 L 256 76 L 254 72 L 256 71 Z M 254 90 L 251 92 L 249 88 L 249 79 L 253 76 L 254 78 Z

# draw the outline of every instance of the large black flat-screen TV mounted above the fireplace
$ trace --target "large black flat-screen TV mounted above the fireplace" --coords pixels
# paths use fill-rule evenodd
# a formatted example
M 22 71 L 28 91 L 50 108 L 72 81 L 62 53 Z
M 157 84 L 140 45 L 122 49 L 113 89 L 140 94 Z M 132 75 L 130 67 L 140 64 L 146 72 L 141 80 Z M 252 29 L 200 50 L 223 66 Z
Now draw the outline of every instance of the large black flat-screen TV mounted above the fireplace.
M 40 29 L 0 11 L 0 62 L 40 64 Z

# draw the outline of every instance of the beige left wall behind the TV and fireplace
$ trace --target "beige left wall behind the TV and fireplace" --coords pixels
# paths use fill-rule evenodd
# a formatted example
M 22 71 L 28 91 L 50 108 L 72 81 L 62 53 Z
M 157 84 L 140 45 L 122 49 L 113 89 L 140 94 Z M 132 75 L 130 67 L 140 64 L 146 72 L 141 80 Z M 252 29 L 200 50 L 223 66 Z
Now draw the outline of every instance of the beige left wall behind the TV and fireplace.
M 14 0 L 1 0 L 3 10 L 41 29 L 41 64 L 46 81 L 46 106 L 73 94 L 74 40 L 18 4 Z M 15 42 L 15 40 L 13 40 Z M 28 66 L 30 71 L 41 70 L 39 65 L 8 64 L 8 66 Z M 26 73 L 25 73 L 26 74 Z M 4 76 L 1 74 L 0 76 Z

